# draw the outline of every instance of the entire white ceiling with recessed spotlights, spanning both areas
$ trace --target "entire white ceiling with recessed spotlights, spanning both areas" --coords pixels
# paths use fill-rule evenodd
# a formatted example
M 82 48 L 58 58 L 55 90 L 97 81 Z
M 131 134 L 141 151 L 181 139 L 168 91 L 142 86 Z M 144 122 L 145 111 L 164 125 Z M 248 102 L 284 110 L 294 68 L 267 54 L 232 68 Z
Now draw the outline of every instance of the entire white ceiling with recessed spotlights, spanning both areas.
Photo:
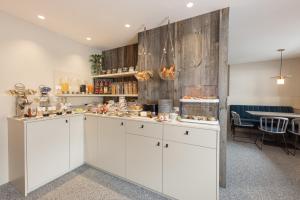
M 300 56 L 300 0 L 0 0 L 6 13 L 100 49 L 134 43 L 144 24 L 161 26 L 167 16 L 178 21 L 228 6 L 231 64 L 276 59 L 278 48 Z

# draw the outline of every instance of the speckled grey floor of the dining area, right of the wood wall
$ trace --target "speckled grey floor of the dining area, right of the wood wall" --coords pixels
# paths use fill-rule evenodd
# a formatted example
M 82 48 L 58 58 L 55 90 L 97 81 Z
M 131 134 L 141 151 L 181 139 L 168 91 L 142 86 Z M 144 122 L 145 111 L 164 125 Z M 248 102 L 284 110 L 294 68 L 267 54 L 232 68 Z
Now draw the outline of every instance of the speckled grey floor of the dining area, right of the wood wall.
M 299 200 L 300 151 L 294 157 L 282 148 L 228 142 L 227 187 L 221 200 Z

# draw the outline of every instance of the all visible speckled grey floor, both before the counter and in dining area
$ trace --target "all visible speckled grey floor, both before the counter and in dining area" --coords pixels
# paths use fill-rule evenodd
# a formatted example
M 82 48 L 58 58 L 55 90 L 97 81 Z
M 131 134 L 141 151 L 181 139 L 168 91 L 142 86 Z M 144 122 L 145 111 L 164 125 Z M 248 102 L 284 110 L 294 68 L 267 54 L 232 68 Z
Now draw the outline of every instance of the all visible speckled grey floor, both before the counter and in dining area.
M 227 188 L 221 200 L 299 200 L 300 152 L 229 141 Z M 167 200 L 111 175 L 83 166 L 22 197 L 13 186 L 0 187 L 0 200 Z

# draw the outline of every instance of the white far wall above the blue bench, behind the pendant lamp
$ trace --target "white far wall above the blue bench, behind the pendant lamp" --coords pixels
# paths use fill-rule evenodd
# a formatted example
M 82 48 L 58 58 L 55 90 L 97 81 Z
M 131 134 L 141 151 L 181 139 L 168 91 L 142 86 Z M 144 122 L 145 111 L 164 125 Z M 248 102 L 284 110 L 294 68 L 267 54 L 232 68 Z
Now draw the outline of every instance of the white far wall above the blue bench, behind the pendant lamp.
M 230 66 L 229 104 L 289 105 L 300 109 L 300 58 L 284 60 L 285 85 L 271 76 L 279 74 L 280 61 L 253 62 Z

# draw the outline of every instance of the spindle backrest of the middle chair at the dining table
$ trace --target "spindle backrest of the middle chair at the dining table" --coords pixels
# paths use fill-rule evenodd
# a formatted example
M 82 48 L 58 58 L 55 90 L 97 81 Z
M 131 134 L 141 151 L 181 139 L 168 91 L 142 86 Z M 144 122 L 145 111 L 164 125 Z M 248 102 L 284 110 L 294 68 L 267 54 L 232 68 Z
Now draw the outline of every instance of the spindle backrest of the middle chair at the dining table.
M 289 119 L 284 117 L 261 117 L 260 129 L 270 133 L 285 133 Z

